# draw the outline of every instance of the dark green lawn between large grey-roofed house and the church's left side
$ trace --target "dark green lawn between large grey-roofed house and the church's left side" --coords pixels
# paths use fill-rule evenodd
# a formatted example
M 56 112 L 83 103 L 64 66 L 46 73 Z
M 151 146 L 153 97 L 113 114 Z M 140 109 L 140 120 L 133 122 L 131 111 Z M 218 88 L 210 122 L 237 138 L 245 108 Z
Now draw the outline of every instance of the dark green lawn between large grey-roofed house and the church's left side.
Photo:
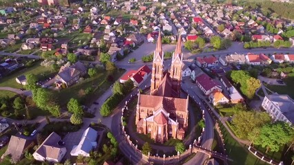
M 99 74 L 93 78 L 86 78 L 86 80 L 81 83 L 77 83 L 66 89 L 61 89 L 60 91 L 55 91 L 55 93 L 61 105 L 67 104 L 70 98 L 77 98 L 84 104 L 92 104 L 92 102 L 97 100 L 101 94 L 104 94 L 112 84 L 106 80 L 108 75 L 112 75 L 114 80 L 117 80 L 124 72 L 124 70 L 116 70 L 114 72 L 100 71 Z M 92 94 L 86 95 L 85 90 L 89 87 L 92 87 L 93 92 Z

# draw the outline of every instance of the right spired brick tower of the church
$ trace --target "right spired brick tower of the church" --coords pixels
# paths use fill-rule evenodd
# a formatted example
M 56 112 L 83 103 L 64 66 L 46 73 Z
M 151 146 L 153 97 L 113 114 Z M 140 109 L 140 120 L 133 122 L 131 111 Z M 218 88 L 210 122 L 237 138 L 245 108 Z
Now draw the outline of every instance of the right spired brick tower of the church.
M 179 97 L 181 91 L 181 81 L 182 81 L 182 66 L 183 66 L 183 54 L 182 54 L 182 37 L 179 34 L 177 40 L 177 46 L 175 47 L 175 52 L 173 53 L 173 60 L 170 65 L 170 78 L 172 79 L 172 88 L 177 92 L 177 97 Z

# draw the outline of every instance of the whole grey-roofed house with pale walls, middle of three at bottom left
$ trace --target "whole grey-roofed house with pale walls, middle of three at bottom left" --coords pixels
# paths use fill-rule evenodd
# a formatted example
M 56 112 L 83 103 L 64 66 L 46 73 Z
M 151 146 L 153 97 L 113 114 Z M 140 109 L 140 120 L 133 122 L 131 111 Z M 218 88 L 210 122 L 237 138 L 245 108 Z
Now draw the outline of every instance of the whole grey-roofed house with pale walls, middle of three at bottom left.
M 66 155 L 66 147 L 59 145 L 59 142 L 61 142 L 61 137 L 52 132 L 32 156 L 40 162 L 60 162 Z

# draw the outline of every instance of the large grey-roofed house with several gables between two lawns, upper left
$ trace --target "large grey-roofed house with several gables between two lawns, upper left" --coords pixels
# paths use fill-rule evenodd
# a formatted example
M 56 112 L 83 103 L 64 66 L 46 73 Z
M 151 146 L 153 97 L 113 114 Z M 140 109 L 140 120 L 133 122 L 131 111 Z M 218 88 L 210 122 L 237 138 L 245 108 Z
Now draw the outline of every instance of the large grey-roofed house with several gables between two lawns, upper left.
M 66 87 L 69 87 L 70 85 L 73 85 L 81 78 L 81 76 L 84 76 L 87 74 L 87 69 L 84 66 L 83 63 L 77 62 L 74 65 L 71 65 L 69 67 L 62 66 L 59 69 L 59 72 L 57 76 L 55 76 L 56 80 L 56 86 L 62 87 L 62 85 L 66 85 Z

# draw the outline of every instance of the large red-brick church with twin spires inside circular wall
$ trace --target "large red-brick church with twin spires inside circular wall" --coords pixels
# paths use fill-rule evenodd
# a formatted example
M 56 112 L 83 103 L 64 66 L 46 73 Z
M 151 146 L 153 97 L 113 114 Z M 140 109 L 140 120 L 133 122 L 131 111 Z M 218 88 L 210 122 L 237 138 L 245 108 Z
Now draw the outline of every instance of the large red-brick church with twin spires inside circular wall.
M 148 134 L 155 142 L 168 138 L 184 139 L 188 127 L 188 97 L 179 98 L 182 82 L 182 40 L 177 41 L 169 71 L 164 71 L 161 34 L 153 55 L 150 95 L 138 94 L 135 124 L 137 132 Z

